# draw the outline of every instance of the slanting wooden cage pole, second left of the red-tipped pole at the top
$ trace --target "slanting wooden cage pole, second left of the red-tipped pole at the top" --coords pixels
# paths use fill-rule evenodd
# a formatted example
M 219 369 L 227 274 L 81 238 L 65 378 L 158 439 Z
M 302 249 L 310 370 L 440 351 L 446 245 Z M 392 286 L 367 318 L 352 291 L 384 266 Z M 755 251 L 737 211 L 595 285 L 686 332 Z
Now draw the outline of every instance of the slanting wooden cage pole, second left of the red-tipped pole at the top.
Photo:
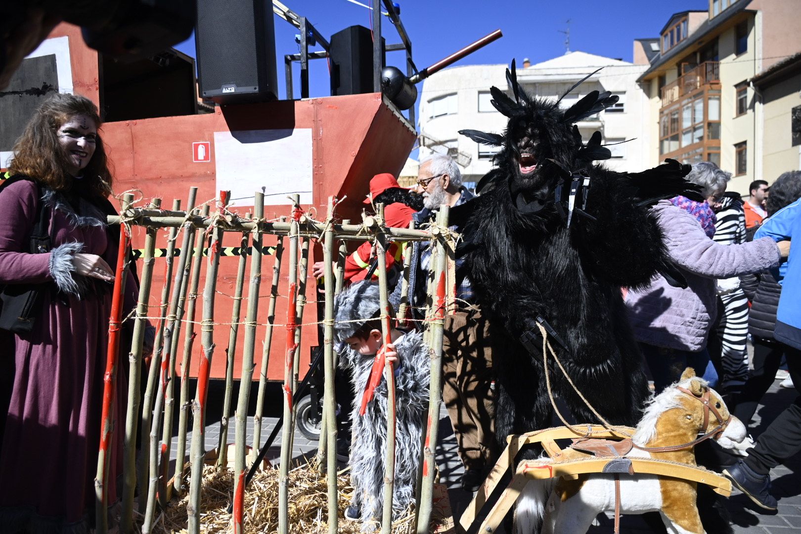
M 189 188 L 189 198 L 187 200 L 187 210 L 195 206 L 197 197 L 197 187 Z M 167 355 L 163 359 L 162 365 L 167 365 L 167 383 L 164 387 L 164 416 L 161 435 L 160 452 L 160 476 L 159 476 L 159 506 L 165 508 L 167 501 L 170 500 L 172 486 L 167 487 L 167 472 L 170 467 L 170 449 L 172 446 L 172 416 L 174 408 L 174 387 L 175 383 L 175 361 L 178 353 L 179 335 L 181 332 L 181 319 L 183 318 L 183 305 L 187 298 L 187 288 L 189 286 L 189 271 L 192 258 L 192 239 L 195 237 L 195 227 L 191 223 L 183 224 L 183 241 L 181 252 L 178 259 L 178 269 L 175 271 L 175 283 L 172 289 L 170 301 L 170 312 L 167 315 L 167 332 L 170 337 L 170 344 L 167 347 Z

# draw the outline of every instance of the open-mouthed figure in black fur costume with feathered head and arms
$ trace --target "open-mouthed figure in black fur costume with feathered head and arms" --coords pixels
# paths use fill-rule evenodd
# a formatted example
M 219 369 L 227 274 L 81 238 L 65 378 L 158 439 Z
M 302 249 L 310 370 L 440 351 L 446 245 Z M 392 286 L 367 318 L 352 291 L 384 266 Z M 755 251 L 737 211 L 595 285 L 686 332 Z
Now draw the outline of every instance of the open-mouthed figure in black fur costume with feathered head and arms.
M 496 167 L 478 184 L 480 196 L 451 210 L 464 238 L 464 274 L 493 328 L 498 443 L 551 424 L 535 320 L 553 332 L 550 342 L 590 404 L 612 424 L 633 425 L 648 390 L 621 289 L 657 273 L 683 283 L 649 207 L 676 195 L 703 199 L 683 179 L 690 166 L 674 160 L 638 174 L 592 163 L 610 150 L 599 132 L 583 144 L 573 125 L 618 97 L 595 90 L 562 110 L 559 101 L 525 94 L 514 62 L 506 75 L 514 99 L 491 88 L 493 106 L 509 117 L 505 133 L 460 132 L 501 147 Z M 549 374 L 578 422 L 599 422 L 552 360 Z

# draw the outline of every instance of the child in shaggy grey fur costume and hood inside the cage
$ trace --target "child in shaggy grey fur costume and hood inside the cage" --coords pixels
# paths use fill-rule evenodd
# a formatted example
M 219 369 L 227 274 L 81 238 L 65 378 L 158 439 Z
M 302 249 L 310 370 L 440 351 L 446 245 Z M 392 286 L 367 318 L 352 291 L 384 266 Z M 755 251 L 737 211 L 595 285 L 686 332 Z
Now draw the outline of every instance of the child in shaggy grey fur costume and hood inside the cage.
M 359 415 L 373 357 L 382 342 L 378 285 L 354 283 L 336 299 L 336 342 L 340 365 L 352 377 L 356 400 L 352 407 L 350 456 L 353 497 L 351 509 L 360 511 L 362 532 L 372 532 L 384 503 L 384 461 L 387 448 L 387 383 L 381 379 L 375 396 Z M 348 323 L 354 319 L 364 322 Z M 398 518 L 414 502 L 421 453 L 422 423 L 429 408 L 429 349 L 421 332 L 392 329 L 387 359 L 395 369 L 395 488 L 392 515 Z M 351 514 L 349 514 L 351 515 Z

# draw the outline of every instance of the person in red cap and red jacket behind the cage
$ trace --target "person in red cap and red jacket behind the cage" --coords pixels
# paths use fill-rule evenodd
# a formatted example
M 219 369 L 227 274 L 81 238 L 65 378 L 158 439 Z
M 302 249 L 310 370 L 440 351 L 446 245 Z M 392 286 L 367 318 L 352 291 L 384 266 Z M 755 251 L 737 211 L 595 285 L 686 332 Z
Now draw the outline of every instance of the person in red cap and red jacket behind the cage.
M 384 204 L 384 221 L 388 227 L 407 228 L 412 221 L 412 216 L 422 209 L 422 198 L 414 195 L 405 187 L 400 187 L 397 179 L 388 172 L 375 175 L 370 180 L 370 194 L 364 199 L 365 204 Z M 387 270 L 392 272 L 392 267 L 400 266 L 403 263 L 403 254 L 406 250 L 406 243 L 392 242 L 387 250 Z M 346 283 L 353 283 L 367 277 L 370 270 L 372 259 L 375 258 L 373 244 L 365 241 L 356 251 L 353 251 L 345 259 L 344 279 Z M 316 262 L 312 266 L 312 274 L 316 278 L 324 275 L 324 263 Z M 376 278 L 373 273 L 372 278 Z M 392 285 L 392 284 L 391 284 Z

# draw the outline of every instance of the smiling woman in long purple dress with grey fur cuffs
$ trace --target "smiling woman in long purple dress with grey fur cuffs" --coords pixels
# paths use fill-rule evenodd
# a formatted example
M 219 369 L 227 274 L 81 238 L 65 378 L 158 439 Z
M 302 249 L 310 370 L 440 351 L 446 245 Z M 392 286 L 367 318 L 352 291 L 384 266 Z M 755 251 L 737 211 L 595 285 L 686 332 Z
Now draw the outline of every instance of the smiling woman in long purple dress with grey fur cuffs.
M 53 94 L 14 146 L 0 191 L 0 285 L 39 288 L 33 330 L 6 335 L 0 357 L 14 359 L 14 382 L 0 448 L 0 533 L 88 532 L 106 366 L 108 317 L 118 240 L 107 227 L 111 174 L 97 107 Z M 42 208 L 51 251 L 30 254 Z M 127 283 L 126 306 L 137 287 Z M 8 347 L 10 344 L 11 347 Z M 109 502 L 121 460 L 124 375 L 116 395 Z

